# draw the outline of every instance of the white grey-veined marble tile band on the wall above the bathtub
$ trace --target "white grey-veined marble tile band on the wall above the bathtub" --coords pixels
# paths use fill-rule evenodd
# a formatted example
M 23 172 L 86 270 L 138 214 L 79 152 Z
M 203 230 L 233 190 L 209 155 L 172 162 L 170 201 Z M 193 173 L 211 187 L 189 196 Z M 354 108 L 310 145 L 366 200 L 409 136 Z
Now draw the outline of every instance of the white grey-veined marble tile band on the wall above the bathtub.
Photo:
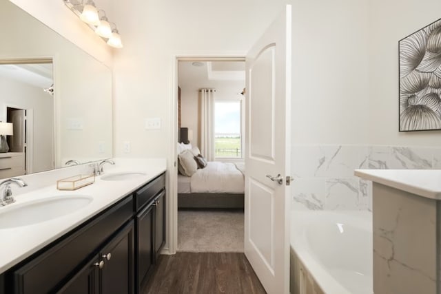
M 372 210 L 372 184 L 354 169 L 441 169 L 441 148 L 294 145 L 292 208 Z

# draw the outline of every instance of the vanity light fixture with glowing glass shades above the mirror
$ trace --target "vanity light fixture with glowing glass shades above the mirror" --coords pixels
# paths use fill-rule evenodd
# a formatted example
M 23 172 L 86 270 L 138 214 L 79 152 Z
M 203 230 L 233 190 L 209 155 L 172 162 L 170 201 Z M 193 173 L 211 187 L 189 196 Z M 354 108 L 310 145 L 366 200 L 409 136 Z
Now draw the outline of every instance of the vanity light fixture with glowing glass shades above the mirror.
M 82 21 L 88 23 L 89 27 L 106 41 L 107 45 L 113 48 L 123 48 L 121 35 L 116 29 L 115 23 L 110 23 L 105 16 L 105 11 L 98 9 L 92 0 L 63 0 L 65 6 L 76 14 Z M 100 14 L 103 16 L 100 17 Z M 112 27 L 113 25 L 113 27 Z

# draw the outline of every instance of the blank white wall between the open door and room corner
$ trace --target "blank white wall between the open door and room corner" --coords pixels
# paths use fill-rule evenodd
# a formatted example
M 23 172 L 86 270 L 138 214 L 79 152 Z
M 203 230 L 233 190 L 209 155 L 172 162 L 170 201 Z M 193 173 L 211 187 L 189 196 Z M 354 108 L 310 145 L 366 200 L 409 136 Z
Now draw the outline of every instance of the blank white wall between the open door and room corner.
M 367 142 L 367 0 L 293 6 L 293 144 Z

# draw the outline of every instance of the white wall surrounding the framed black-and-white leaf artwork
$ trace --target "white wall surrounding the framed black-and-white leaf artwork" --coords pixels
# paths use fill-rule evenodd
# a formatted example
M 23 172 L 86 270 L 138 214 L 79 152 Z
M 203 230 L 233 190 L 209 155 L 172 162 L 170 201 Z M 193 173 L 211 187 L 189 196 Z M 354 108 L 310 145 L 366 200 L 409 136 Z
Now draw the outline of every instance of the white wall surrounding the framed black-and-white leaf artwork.
M 440 11 L 438 0 L 369 1 L 369 143 L 441 145 L 441 131 L 398 132 L 398 41 Z

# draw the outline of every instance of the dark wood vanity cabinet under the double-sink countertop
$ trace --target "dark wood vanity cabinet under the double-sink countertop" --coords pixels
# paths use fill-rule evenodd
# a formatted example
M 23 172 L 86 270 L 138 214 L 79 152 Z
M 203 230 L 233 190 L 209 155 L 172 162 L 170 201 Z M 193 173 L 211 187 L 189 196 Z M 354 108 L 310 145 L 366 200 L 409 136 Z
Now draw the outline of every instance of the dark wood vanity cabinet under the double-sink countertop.
M 138 293 L 165 244 L 165 174 L 0 275 L 0 294 Z

